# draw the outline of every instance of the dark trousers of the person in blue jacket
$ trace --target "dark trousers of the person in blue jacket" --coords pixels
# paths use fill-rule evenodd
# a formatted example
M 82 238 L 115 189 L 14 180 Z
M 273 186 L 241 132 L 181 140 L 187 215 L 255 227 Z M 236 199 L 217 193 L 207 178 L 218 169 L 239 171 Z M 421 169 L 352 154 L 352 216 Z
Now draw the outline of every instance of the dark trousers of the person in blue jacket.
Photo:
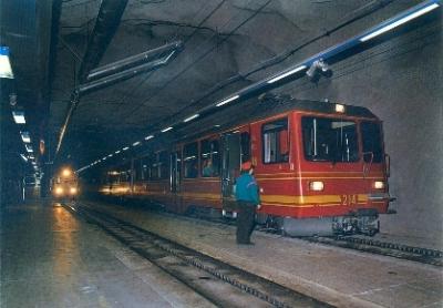
M 256 226 L 256 205 L 249 202 L 237 202 L 237 243 L 249 244 L 250 235 Z

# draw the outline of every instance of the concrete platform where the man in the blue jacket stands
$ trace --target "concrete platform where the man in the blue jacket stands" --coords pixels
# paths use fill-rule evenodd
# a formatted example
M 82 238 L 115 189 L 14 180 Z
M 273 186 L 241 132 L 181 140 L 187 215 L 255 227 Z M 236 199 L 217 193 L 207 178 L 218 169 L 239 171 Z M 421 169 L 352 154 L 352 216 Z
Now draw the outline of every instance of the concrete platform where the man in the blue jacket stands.
M 235 226 L 145 208 L 90 205 L 337 307 L 443 307 L 443 269 L 436 266 L 257 232 L 255 245 L 243 246 L 235 242 Z M 401 239 L 418 246 L 423 242 Z

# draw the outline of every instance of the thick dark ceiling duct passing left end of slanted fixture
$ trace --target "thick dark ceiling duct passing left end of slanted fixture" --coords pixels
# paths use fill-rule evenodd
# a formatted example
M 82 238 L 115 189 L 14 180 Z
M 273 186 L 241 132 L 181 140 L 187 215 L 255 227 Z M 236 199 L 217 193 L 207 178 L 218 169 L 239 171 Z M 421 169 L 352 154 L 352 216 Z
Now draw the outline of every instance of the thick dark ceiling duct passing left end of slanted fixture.
M 112 38 L 115 34 L 115 31 L 120 24 L 122 19 L 122 14 L 126 8 L 127 0 L 103 0 L 99 14 L 95 21 L 94 29 L 91 34 L 91 39 L 87 43 L 86 52 L 83 57 L 83 61 L 80 65 L 79 70 L 79 81 L 84 82 L 89 72 L 94 69 L 100 60 L 102 59 L 104 52 L 106 51 L 107 45 L 110 44 Z M 60 130 L 59 142 L 55 148 L 55 155 L 59 153 L 63 137 L 66 133 L 69 123 L 72 119 L 72 115 L 79 104 L 78 95 L 73 94 L 73 99 L 66 109 L 66 115 L 63 121 L 63 125 Z

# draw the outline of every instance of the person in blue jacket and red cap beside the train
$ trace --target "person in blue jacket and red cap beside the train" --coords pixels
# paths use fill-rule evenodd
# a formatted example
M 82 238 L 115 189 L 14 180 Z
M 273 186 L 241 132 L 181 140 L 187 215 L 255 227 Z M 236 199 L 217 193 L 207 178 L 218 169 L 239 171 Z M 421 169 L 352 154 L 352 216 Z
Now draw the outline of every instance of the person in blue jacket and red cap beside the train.
M 255 227 L 256 209 L 260 208 L 258 185 L 254 178 L 254 166 L 250 162 L 241 164 L 241 174 L 236 179 L 237 201 L 237 244 L 250 245 L 250 235 Z

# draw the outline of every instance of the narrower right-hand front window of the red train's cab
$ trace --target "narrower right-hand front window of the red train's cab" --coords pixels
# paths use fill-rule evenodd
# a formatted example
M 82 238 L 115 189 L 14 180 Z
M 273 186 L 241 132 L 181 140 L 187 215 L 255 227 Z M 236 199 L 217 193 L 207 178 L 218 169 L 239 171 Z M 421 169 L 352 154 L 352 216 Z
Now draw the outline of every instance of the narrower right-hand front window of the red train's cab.
M 383 157 L 382 137 L 380 124 L 375 122 L 361 122 L 361 138 L 363 144 L 363 153 L 371 155 L 363 155 L 364 162 L 381 163 Z

